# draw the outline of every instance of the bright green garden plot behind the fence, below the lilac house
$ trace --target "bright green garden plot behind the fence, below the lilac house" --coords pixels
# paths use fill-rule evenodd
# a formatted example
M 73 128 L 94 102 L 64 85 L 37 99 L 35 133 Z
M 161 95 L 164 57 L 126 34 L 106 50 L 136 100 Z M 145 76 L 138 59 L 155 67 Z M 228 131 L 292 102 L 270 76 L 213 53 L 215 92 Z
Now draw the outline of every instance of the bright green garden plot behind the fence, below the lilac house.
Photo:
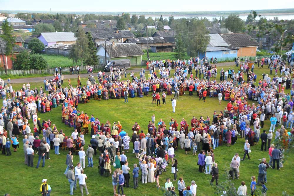
M 61 55 L 47 55 L 42 54 L 44 59 L 48 62 L 49 68 L 55 68 L 56 66 L 59 67 L 70 67 L 73 65 L 80 65 L 81 63 L 73 63 L 71 59 L 69 59 L 67 56 L 61 56 Z

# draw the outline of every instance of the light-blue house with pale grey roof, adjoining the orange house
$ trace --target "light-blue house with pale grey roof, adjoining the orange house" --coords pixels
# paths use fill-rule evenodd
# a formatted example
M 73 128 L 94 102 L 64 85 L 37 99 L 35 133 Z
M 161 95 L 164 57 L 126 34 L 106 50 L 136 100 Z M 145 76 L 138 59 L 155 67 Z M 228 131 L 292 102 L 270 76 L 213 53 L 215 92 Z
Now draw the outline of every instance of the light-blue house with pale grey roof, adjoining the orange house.
M 230 46 L 218 33 L 209 34 L 210 41 L 206 47 L 205 53 L 200 53 L 199 58 L 207 57 L 223 58 L 237 57 L 238 49 Z

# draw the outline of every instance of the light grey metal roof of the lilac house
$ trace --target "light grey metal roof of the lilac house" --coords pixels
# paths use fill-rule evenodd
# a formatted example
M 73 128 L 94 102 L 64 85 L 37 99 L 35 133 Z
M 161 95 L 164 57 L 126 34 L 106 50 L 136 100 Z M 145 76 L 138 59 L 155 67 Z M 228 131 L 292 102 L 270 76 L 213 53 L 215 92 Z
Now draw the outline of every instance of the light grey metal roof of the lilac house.
M 72 32 L 41 33 L 41 35 L 47 42 L 76 41 L 74 33 Z

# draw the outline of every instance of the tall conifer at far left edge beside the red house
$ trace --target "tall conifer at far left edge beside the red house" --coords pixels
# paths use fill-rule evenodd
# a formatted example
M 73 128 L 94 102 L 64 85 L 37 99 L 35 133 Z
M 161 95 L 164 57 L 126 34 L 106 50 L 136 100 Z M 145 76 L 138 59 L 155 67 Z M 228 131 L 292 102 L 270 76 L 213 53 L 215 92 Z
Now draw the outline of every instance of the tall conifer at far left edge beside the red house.
M 13 32 L 13 28 L 11 26 L 9 26 L 7 19 L 5 19 L 5 21 L 2 23 L 2 34 L 0 34 L 0 44 L 1 44 L 1 48 L 0 50 L 2 51 L 2 58 L 3 58 L 3 65 L 4 65 L 4 69 L 5 69 L 5 74 L 7 75 L 7 70 L 6 70 L 6 66 L 5 66 L 5 61 L 4 61 L 4 51 L 6 56 L 10 56 L 11 55 L 11 61 L 12 63 L 14 62 L 14 57 L 13 57 L 13 47 L 15 46 L 15 37 L 13 36 L 12 32 Z M 5 48 L 2 48 L 2 42 L 5 42 Z

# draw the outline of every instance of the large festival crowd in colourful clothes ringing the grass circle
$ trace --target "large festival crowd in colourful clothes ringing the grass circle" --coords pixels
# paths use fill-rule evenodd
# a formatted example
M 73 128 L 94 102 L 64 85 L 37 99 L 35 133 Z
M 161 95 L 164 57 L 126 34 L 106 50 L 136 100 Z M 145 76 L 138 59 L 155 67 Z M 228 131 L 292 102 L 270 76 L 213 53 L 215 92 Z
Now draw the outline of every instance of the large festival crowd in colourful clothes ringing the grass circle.
M 175 152 L 181 149 L 186 154 L 189 154 L 191 150 L 193 155 L 198 154 L 199 172 L 212 175 L 211 184 L 216 180 L 218 185 L 218 164 L 215 161 L 217 157 L 214 155 L 214 150 L 219 145 L 226 144 L 228 147 L 234 145 L 239 136 L 239 138 L 245 138 L 244 156 L 241 159 L 239 154 L 235 153 L 230 163 L 230 175 L 233 179 L 240 177 L 240 161 L 244 161 L 246 155 L 250 160 L 250 146 L 258 145 L 261 140 L 261 150 L 264 147 L 264 150 L 268 151 L 270 161 L 267 163 L 265 158 L 262 159 L 258 166 L 258 182 L 256 183 L 255 177 L 252 176 L 250 192 L 254 195 L 256 185 L 259 184 L 266 192 L 264 183 L 267 182 L 267 168 L 270 166 L 275 168 L 275 163 L 277 169 L 283 167 L 281 164 L 283 152 L 288 148 L 290 136 L 294 134 L 294 127 L 292 128 L 294 78 L 291 80 L 293 65 L 288 67 L 285 62 L 279 60 L 272 61 L 270 64 L 282 67 L 280 75 L 271 78 L 271 75 L 263 74 L 258 84 L 255 84 L 257 75 L 254 73 L 254 66 L 250 68 L 248 62 L 241 63 L 240 68 L 236 70 L 221 69 L 219 82 L 216 80 L 218 73 L 216 66 L 198 58 L 188 61 L 152 61 L 147 63 L 146 67 L 149 71 L 148 78 L 145 77 L 145 69 L 142 68 L 139 73 L 140 78 L 131 73 L 132 80 L 122 81 L 121 71 L 111 68 L 109 75 L 98 72 L 98 83 L 90 75 L 86 85 L 82 85 L 81 78 L 78 76 L 76 87 L 70 85 L 69 80 L 69 87 L 63 88 L 64 77 L 61 71 L 57 72 L 53 79 L 44 80 L 44 90 L 43 87 L 39 90 L 31 89 L 28 83 L 15 92 L 11 84 L 7 86 L 0 78 L 3 98 L 0 114 L 2 154 L 12 155 L 11 146 L 14 151 L 17 151 L 19 135 L 24 138 L 24 163 L 31 167 L 34 166 L 35 153 L 38 154 L 36 166 L 38 168 L 41 160 L 44 167 L 45 160 L 50 159 L 50 150 L 54 149 L 54 153 L 59 155 L 60 147 L 68 148 L 64 174 L 70 183 L 71 195 L 76 189 L 77 180 L 79 180 L 81 194 L 83 195 L 83 188 L 86 194 L 89 194 L 86 186 L 87 176 L 83 173 L 86 168 L 85 157 L 88 158 L 87 166 L 93 167 L 93 157 L 98 154 L 100 155 L 100 175 L 111 176 L 114 195 L 123 195 L 124 187 L 130 186 L 130 171 L 132 171 L 135 189 L 138 187 L 139 173 L 143 184 L 156 182 L 157 187 L 160 187 L 159 177 L 166 171 L 169 164 L 171 164 L 171 173 L 174 175 L 173 181 L 178 180 L 178 160 L 175 158 Z M 158 70 L 156 70 L 157 67 Z M 195 77 L 193 77 L 194 70 Z M 173 76 L 170 77 L 171 75 Z M 247 80 L 244 79 L 245 75 Z M 290 93 L 285 93 L 285 88 L 291 88 Z M 135 93 L 141 98 L 148 96 L 150 90 L 152 98 L 155 94 L 156 100 L 160 99 L 159 92 L 163 94 L 167 92 L 168 96 L 174 94 L 174 98 L 178 99 L 178 96 L 183 96 L 185 91 L 189 91 L 190 96 L 196 92 L 199 100 L 203 99 L 204 102 L 208 95 L 210 98 L 218 97 L 220 104 L 222 100 L 227 101 L 228 104 L 220 113 L 215 111 L 212 119 L 209 116 L 206 118 L 201 116 L 199 119 L 193 117 L 188 122 L 183 118 L 180 123 L 177 123 L 177 120 L 172 118 L 169 123 L 165 123 L 162 119 L 155 123 L 155 115 L 153 115 L 147 126 L 148 132 L 144 133 L 141 126 L 135 123 L 130 136 L 124 131 L 119 121 L 101 123 L 99 118 L 95 118 L 94 115 L 90 117 L 78 109 L 79 103 L 86 104 L 91 98 L 101 100 L 102 95 L 102 98 L 107 100 L 108 92 L 110 98 L 123 97 L 125 102 L 128 102 L 127 98 L 136 97 Z M 166 96 L 162 98 L 165 99 Z M 249 100 L 253 102 L 251 105 L 248 103 Z M 74 130 L 69 136 L 66 136 L 61 129 L 58 130 L 50 119 L 41 121 L 38 117 L 38 112 L 50 112 L 56 107 L 61 107 L 61 121 Z M 264 121 L 267 119 L 271 123 L 270 129 L 263 130 L 260 134 Z M 30 128 L 30 120 L 32 120 L 33 131 Z M 278 124 L 281 127 L 276 129 Z M 291 130 L 288 131 L 288 128 Z M 283 143 L 280 149 L 275 148 L 273 144 L 273 133 L 275 133 L 275 140 Z M 84 134 L 90 134 L 89 142 L 85 141 Z M 132 168 L 129 167 L 127 159 L 130 142 L 133 143 L 134 156 L 138 159 L 137 163 L 132 163 Z M 86 143 L 90 145 L 85 152 Z M 76 167 L 74 167 L 76 162 L 73 159 L 74 153 L 79 157 Z M 115 169 L 113 172 L 112 166 Z M 46 181 L 43 179 L 40 191 L 43 195 L 50 195 Z M 183 177 L 180 177 L 177 187 L 179 195 L 186 195 L 187 192 L 196 195 L 195 181 L 191 182 L 191 186 L 186 186 Z M 245 183 L 242 182 L 238 189 L 239 195 L 246 194 L 245 187 Z M 166 179 L 165 188 L 172 194 L 176 194 L 176 187 L 169 178 Z

